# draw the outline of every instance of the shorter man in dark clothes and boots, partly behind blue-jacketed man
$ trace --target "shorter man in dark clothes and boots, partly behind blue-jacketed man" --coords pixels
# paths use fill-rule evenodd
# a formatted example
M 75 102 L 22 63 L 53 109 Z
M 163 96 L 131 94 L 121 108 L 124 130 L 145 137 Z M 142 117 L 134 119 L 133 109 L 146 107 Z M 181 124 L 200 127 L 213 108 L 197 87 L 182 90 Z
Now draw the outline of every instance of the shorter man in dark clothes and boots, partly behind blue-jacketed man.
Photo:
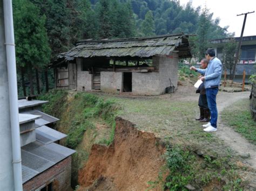
M 200 62 L 201 69 L 207 68 L 209 61 L 207 59 L 202 59 Z M 201 77 L 201 76 L 200 76 Z M 196 120 L 200 122 L 209 122 L 210 121 L 210 110 L 208 108 L 207 104 L 207 98 L 206 98 L 206 90 L 204 83 L 202 83 L 199 88 L 196 91 L 197 93 L 200 93 L 198 105 L 200 109 L 200 117 Z

